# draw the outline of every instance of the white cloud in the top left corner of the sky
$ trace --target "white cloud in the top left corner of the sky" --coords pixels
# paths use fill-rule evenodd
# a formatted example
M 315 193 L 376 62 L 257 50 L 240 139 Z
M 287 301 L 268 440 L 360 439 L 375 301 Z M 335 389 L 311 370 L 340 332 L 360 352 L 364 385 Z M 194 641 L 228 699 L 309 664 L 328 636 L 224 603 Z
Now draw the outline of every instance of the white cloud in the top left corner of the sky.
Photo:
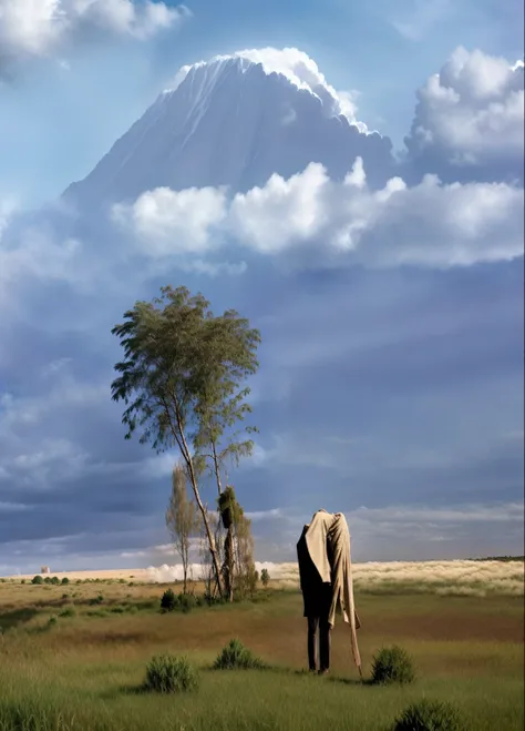
M 53 55 L 85 31 L 144 40 L 188 13 L 152 0 L 0 0 L 0 77 L 19 61 Z

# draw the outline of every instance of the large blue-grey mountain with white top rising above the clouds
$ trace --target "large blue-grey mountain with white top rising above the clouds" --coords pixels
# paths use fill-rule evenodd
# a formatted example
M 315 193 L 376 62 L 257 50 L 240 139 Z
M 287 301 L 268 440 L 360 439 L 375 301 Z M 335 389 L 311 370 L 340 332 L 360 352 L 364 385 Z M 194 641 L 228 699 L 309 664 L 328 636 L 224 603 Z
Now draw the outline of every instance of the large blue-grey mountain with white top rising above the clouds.
M 341 179 L 357 155 L 369 183 L 384 183 L 390 140 L 353 119 L 348 95 L 311 59 L 296 49 L 241 51 L 181 69 L 173 88 L 64 196 L 91 207 L 159 186 L 246 191 L 309 162 Z

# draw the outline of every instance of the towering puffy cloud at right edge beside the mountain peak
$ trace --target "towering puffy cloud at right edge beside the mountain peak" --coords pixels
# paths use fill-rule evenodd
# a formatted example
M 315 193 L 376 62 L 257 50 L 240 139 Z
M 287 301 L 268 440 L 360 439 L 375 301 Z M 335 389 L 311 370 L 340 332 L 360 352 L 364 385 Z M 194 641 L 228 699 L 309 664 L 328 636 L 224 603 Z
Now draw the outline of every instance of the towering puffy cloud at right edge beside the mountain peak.
M 456 164 L 523 158 L 523 63 L 460 47 L 418 100 L 406 139 L 412 155 L 434 152 Z

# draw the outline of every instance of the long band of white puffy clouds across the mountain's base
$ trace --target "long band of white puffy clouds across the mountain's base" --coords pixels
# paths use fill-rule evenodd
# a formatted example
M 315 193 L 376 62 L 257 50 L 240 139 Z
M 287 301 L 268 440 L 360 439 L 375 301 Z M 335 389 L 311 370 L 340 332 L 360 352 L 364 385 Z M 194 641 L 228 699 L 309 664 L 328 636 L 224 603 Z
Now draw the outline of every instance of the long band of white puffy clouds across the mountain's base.
M 362 160 L 341 183 L 311 163 L 288 180 L 237 193 L 158 189 L 124 215 L 152 256 L 203 252 L 226 238 L 260 254 L 288 254 L 305 264 L 467 266 L 523 253 L 523 190 L 505 183 L 443 184 L 435 175 L 409 187 L 392 177 L 367 184 Z

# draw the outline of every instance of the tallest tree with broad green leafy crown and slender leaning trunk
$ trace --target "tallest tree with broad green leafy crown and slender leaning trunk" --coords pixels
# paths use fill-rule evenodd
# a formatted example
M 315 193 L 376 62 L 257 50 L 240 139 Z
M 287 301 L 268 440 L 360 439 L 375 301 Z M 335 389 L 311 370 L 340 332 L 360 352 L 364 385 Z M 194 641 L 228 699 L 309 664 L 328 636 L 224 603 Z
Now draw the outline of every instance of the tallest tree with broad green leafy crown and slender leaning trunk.
M 116 363 L 120 375 L 111 388 L 113 399 L 126 406 L 125 438 L 141 427 L 142 444 L 150 441 L 157 451 L 178 447 L 223 595 L 220 561 L 199 477 L 207 464 L 206 446 L 223 440 L 225 456 L 248 449 L 231 447 L 228 453 L 224 443 L 227 429 L 249 410 L 244 403 L 248 390 L 240 384 L 257 370 L 259 332 L 235 311 L 214 316 L 203 295 L 192 296 L 186 287 L 161 287 L 161 297 L 136 302 L 124 321 L 112 329 L 125 359 Z

